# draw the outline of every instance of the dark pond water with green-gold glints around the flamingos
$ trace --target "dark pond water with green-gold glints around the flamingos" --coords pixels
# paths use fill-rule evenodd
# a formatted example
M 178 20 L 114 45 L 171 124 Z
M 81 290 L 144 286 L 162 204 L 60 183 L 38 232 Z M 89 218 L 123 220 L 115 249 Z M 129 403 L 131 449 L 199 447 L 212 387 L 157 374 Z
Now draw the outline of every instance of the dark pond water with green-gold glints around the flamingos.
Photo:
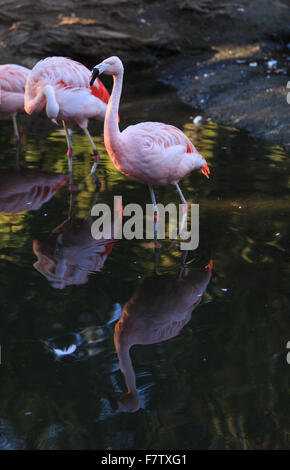
M 135 413 L 116 409 L 126 386 L 114 318 L 153 274 L 152 242 L 121 240 L 87 268 L 71 262 L 70 276 L 58 285 L 64 288 L 57 289 L 33 266 L 33 246 L 38 240 L 44 247 L 47 266 L 54 256 L 52 231 L 68 217 L 67 186 L 34 210 L 32 194 L 14 196 L 14 207 L 20 200 L 30 210 L 1 213 L 0 448 L 290 448 L 289 160 L 281 147 L 237 129 L 213 122 L 195 127 L 194 115 L 150 79 L 124 91 L 121 127 L 143 120 L 174 124 L 211 169 L 210 180 L 192 173 L 181 187 L 190 203 L 200 204 L 200 243 L 187 267 L 202 268 L 212 259 L 212 278 L 178 336 L 132 348 L 141 404 Z M 42 191 L 45 198 L 43 172 L 67 172 L 65 138 L 45 117 L 19 121 L 23 179 L 42 184 L 33 194 Z M 147 188 L 114 169 L 102 125 L 91 123 L 91 130 L 102 156 L 98 202 L 112 205 L 113 196 L 122 195 L 123 204 L 145 207 Z M 4 186 L 19 181 L 11 131 L 11 123 L 1 120 L 1 210 L 8 207 L 1 200 Z M 90 170 L 90 147 L 78 130 L 73 144 L 79 183 Z M 77 230 L 87 229 L 95 194 L 88 178 L 72 208 Z M 173 187 L 158 188 L 156 195 L 159 202 L 179 202 Z M 68 259 L 82 248 L 77 235 L 72 245 Z M 164 242 L 159 275 L 177 277 L 182 258 L 178 245 Z M 99 271 L 89 274 L 94 266 Z M 52 351 L 71 344 L 76 351 L 61 359 Z

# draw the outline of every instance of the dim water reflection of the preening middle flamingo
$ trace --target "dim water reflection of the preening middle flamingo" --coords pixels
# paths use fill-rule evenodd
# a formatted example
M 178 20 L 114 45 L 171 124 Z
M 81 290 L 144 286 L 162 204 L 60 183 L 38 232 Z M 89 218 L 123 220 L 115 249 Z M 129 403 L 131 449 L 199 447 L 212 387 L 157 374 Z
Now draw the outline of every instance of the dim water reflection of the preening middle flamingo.
M 48 240 L 33 241 L 38 258 L 33 266 L 57 289 L 85 284 L 90 274 L 101 271 L 114 244 L 113 223 L 112 238 L 93 238 L 92 217 L 72 217 L 74 194 L 70 198 L 68 219 L 52 231 Z

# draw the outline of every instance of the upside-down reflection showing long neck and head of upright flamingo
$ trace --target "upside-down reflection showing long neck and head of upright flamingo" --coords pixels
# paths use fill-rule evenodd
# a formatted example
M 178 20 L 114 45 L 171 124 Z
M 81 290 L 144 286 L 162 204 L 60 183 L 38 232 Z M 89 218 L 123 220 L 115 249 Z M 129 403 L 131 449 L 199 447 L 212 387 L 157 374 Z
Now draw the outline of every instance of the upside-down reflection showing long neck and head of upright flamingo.
M 154 275 L 145 279 L 124 305 L 115 326 L 114 343 L 127 393 L 118 400 L 119 411 L 140 408 L 136 375 L 130 357 L 135 344 L 154 344 L 180 334 L 199 305 L 212 275 L 212 261 L 202 269 L 185 269 L 178 278 Z

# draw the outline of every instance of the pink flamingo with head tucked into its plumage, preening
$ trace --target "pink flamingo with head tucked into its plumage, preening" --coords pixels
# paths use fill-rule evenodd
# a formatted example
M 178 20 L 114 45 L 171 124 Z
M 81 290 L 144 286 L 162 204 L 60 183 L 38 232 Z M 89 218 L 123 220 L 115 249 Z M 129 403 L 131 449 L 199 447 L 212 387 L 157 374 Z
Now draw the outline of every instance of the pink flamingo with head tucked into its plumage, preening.
M 100 155 L 88 130 L 88 119 L 103 121 L 109 93 L 100 80 L 90 86 L 90 71 L 65 57 L 47 57 L 31 70 L 25 89 L 24 105 L 28 114 L 46 110 L 56 122 L 62 120 L 68 146 L 69 170 L 72 173 L 73 147 L 67 121 L 75 121 L 87 135 L 94 152 L 94 174 Z

